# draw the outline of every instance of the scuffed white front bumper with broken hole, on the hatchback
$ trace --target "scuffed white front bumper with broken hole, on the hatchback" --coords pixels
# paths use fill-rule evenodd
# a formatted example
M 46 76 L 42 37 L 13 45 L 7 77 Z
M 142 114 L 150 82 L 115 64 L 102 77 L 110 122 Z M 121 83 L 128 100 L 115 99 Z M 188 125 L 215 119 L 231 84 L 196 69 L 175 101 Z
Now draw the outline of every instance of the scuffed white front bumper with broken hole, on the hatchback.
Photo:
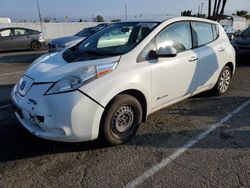
M 47 140 L 96 139 L 103 107 L 79 91 L 43 95 L 50 86 L 33 85 L 24 97 L 12 91 L 15 115 L 20 123 L 33 135 Z

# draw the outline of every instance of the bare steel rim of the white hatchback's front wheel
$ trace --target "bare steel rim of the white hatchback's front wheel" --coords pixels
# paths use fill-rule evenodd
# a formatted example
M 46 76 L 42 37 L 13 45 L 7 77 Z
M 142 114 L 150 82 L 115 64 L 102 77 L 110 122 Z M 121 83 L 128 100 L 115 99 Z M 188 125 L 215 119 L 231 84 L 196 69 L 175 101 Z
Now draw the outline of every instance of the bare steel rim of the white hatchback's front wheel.
M 112 118 L 112 128 L 116 133 L 124 133 L 134 122 L 134 112 L 129 106 L 121 107 Z

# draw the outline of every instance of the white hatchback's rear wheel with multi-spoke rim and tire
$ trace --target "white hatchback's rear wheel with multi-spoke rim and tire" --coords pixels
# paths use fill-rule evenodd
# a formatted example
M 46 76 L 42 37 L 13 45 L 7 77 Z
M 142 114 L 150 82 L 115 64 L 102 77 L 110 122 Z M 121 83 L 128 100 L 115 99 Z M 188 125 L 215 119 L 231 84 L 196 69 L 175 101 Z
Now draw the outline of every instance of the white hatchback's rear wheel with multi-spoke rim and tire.
M 232 70 L 230 67 L 225 66 L 220 73 L 217 83 L 212 89 L 212 93 L 217 96 L 226 93 L 229 88 L 231 78 Z

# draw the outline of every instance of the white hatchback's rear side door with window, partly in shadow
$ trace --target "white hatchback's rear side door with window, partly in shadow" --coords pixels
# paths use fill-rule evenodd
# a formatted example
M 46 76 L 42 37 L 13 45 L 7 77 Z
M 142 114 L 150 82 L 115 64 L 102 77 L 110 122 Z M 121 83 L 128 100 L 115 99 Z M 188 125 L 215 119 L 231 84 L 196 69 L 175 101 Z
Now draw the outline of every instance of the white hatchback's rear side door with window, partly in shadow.
M 199 53 L 197 90 L 212 87 L 219 75 L 219 61 L 223 57 L 225 46 L 218 39 L 218 28 L 214 24 L 192 22 L 195 48 Z M 217 53 L 222 56 L 217 56 Z

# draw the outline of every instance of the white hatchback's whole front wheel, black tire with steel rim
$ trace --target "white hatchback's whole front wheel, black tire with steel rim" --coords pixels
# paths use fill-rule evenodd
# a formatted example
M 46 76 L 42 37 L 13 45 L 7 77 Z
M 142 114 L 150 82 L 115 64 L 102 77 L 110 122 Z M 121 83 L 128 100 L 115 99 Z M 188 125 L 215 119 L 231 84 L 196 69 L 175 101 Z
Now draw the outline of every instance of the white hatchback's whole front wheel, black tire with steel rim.
M 142 107 L 130 95 L 118 95 L 104 111 L 100 136 L 110 145 L 119 145 L 135 136 L 142 121 Z

